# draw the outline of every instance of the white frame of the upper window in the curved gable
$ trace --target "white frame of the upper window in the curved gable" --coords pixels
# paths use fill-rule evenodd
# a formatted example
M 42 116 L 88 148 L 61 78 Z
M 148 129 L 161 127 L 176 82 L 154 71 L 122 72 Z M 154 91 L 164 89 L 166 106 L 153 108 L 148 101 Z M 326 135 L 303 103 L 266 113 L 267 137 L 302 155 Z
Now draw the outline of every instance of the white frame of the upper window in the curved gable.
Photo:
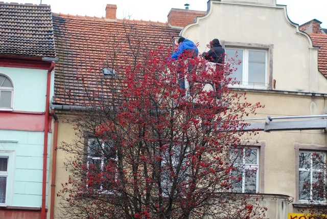
M 272 90 L 272 50 L 273 45 L 263 45 L 258 43 L 241 43 L 241 42 L 228 42 L 222 40 L 222 45 L 225 50 L 242 50 L 243 51 L 243 61 L 242 61 L 242 81 L 240 84 L 229 84 L 231 88 L 241 88 L 241 89 L 255 89 L 255 90 Z M 248 84 L 248 52 L 249 51 L 259 51 L 265 52 L 265 84 Z M 225 57 L 225 62 L 231 57 Z M 238 60 L 238 59 L 236 59 Z M 235 66 L 236 68 L 238 66 Z

